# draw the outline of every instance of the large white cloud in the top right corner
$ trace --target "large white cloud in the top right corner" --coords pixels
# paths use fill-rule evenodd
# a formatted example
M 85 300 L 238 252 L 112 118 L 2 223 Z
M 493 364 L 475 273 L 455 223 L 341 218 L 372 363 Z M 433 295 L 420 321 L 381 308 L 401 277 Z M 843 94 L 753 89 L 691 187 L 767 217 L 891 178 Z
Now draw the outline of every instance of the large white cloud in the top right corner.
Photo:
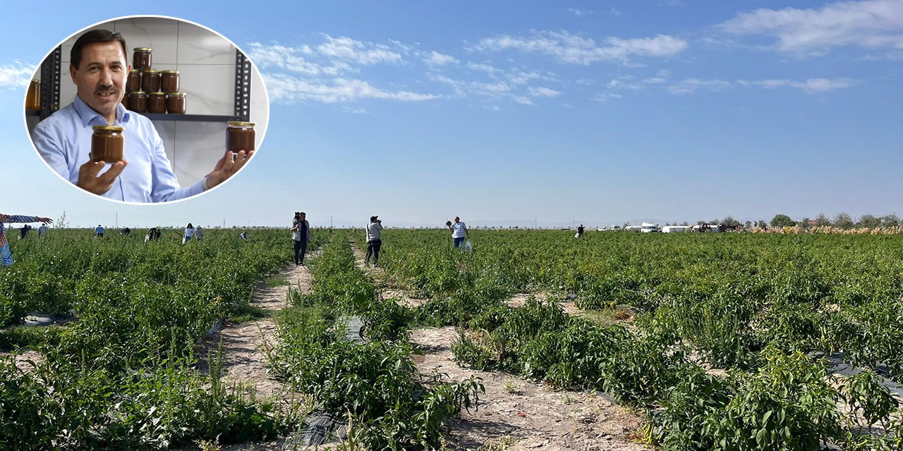
M 819 54 L 838 46 L 903 50 L 903 0 L 866 0 L 825 5 L 821 9 L 757 9 L 719 25 L 738 35 L 777 40 L 775 48 Z

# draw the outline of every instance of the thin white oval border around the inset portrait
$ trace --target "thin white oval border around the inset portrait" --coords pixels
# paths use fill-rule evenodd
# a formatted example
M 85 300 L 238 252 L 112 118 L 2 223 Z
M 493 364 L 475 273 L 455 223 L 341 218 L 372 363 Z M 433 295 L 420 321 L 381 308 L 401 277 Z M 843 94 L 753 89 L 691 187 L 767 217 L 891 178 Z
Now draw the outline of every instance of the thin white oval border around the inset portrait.
M 260 70 L 257 69 L 257 65 L 254 64 L 254 61 L 251 60 L 251 58 L 250 58 L 249 56 L 247 56 L 247 51 L 242 50 L 242 48 L 241 48 L 241 47 L 238 47 L 238 46 L 236 45 L 235 42 L 233 42 L 232 40 L 228 39 L 226 36 L 223 36 L 221 33 L 217 32 L 216 30 L 213 30 L 213 29 L 211 29 L 211 28 L 209 28 L 209 27 L 207 27 L 207 26 L 201 25 L 200 23 L 192 22 L 192 21 L 190 21 L 190 20 L 181 19 L 181 18 L 179 18 L 179 17 L 172 17 L 171 15 L 133 14 L 133 15 L 123 15 L 123 16 L 120 16 L 120 17 L 114 17 L 114 18 L 112 18 L 112 19 L 107 19 L 107 20 L 104 20 L 104 21 L 92 23 L 92 24 L 90 24 L 90 25 L 88 25 L 88 26 L 86 26 L 86 27 L 83 27 L 83 28 L 79 29 L 79 31 L 77 31 L 77 32 L 71 33 L 69 36 L 66 36 L 65 38 L 63 38 L 62 41 L 57 42 L 56 45 L 54 45 L 53 47 L 51 47 L 51 50 L 48 51 L 48 52 L 44 55 L 44 57 L 41 59 L 41 62 L 38 63 L 38 66 L 37 66 L 37 68 L 35 69 L 35 72 L 32 74 L 32 79 L 34 79 L 34 75 L 35 75 L 35 74 L 37 74 L 38 72 L 40 72 L 40 70 L 41 70 L 41 63 L 43 63 L 43 61 L 47 60 L 47 57 L 49 57 L 53 51 L 56 51 L 56 48 L 57 48 L 57 47 L 60 47 L 60 46 L 62 45 L 63 42 L 70 40 L 73 36 L 75 36 L 75 35 L 77 35 L 77 34 L 79 34 L 79 33 L 81 33 L 81 32 L 85 32 L 85 31 L 87 31 L 88 29 L 90 29 L 90 28 L 92 28 L 92 27 L 96 27 L 96 26 L 101 25 L 101 24 L 104 24 L 104 23 L 110 23 L 110 22 L 119 21 L 119 20 L 123 20 L 123 19 L 135 19 L 135 18 L 144 18 L 144 17 L 154 17 L 154 18 L 157 18 L 157 19 L 169 19 L 169 20 L 173 20 L 173 21 L 179 21 L 179 22 L 184 22 L 184 23 L 191 23 L 192 25 L 199 26 L 200 28 L 203 28 L 204 30 L 207 30 L 208 32 L 212 32 L 213 34 L 216 34 L 217 36 L 219 36 L 220 38 L 222 38 L 223 40 L 225 40 L 225 41 L 227 41 L 229 44 L 231 44 L 232 47 L 234 47 L 237 51 L 241 51 L 242 54 L 245 55 L 245 58 L 246 58 L 248 61 L 251 62 L 251 70 L 253 70 L 254 72 L 256 72 L 257 77 L 260 78 L 260 83 L 264 86 L 264 97 L 265 97 L 265 101 L 266 101 L 266 128 L 265 128 L 265 130 L 264 130 L 264 133 L 263 133 L 263 134 L 261 135 L 261 137 L 260 137 L 260 146 L 263 147 L 264 141 L 265 141 L 265 139 L 266 139 L 266 132 L 267 132 L 267 131 L 269 130 L 269 128 L 270 128 L 270 94 L 269 94 L 269 90 L 266 89 L 266 81 L 264 80 L 263 74 L 261 74 L 261 73 L 260 73 Z M 127 55 L 126 55 L 126 56 L 127 56 Z M 29 83 L 31 83 L 31 81 L 29 81 Z M 47 169 L 50 170 L 50 171 L 53 173 L 53 175 L 57 176 L 59 179 L 61 179 L 61 180 L 63 180 L 64 182 L 66 182 L 66 184 L 69 185 L 70 187 L 72 187 L 73 189 L 77 189 L 77 190 L 79 190 L 79 192 L 81 192 L 81 193 L 88 194 L 89 196 L 93 196 L 93 197 L 95 197 L 95 198 L 100 198 L 100 199 L 103 199 L 103 200 L 107 200 L 107 201 L 109 201 L 109 202 L 116 202 L 117 204 L 137 205 L 137 206 L 149 206 L 149 205 L 159 206 L 159 205 L 172 205 L 172 204 L 175 204 L 175 203 L 178 203 L 178 202 L 182 202 L 182 201 L 184 201 L 184 200 L 191 200 L 191 199 L 193 199 L 193 198 L 200 198 L 201 196 L 204 196 L 204 195 L 206 195 L 207 193 L 212 192 L 214 189 L 218 189 L 219 187 L 221 187 L 221 186 L 227 184 L 233 177 L 237 177 L 238 174 L 240 174 L 243 170 L 247 169 L 247 164 L 250 164 L 250 163 L 251 163 L 251 161 L 247 161 L 247 163 L 245 164 L 245 166 L 243 166 L 243 167 L 242 167 L 240 170 L 238 170 L 236 173 L 232 174 L 232 176 L 229 177 L 228 180 L 225 180 L 225 181 L 223 181 L 222 183 L 220 183 L 219 185 L 217 185 L 217 186 L 215 186 L 215 187 L 213 187 L 213 188 L 211 188 L 211 189 L 208 189 L 208 190 L 206 190 L 206 191 L 202 191 L 202 192 L 200 192 L 199 194 L 195 194 L 194 196 L 191 196 L 191 197 L 189 197 L 189 198 L 181 198 L 181 199 L 176 199 L 176 200 L 170 200 L 170 201 L 167 201 L 167 202 L 128 202 L 128 201 L 126 201 L 126 200 L 116 200 L 116 199 L 114 199 L 114 198 L 105 198 L 105 197 L 103 197 L 103 196 L 98 196 L 97 194 L 94 194 L 94 193 L 92 193 L 92 192 L 88 192 L 88 191 L 86 191 L 86 190 L 84 190 L 84 189 L 80 189 L 78 186 L 72 184 L 72 182 L 71 182 L 69 179 L 63 178 L 63 176 L 61 176 L 59 172 L 57 172 L 56 170 L 54 170 L 53 168 L 51 168 L 51 165 L 48 164 L 46 160 L 44 160 L 44 157 L 42 157 L 41 152 L 38 152 L 37 146 L 34 145 L 34 140 L 32 139 L 32 133 L 29 133 L 29 132 L 28 132 L 28 115 L 26 115 L 26 111 L 27 111 L 27 110 L 25 109 L 25 102 L 26 102 L 27 100 L 28 100 L 28 89 L 26 88 L 26 89 L 25 89 L 25 98 L 23 98 L 23 101 L 22 101 L 22 120 L 23 120 L 23 124 L 25 125 L 25 134 L 28 135 L 28 141 L 29 141 L 30 143 L 32 143 L 32 149 L 34 149 L 34 152 L 37 153 L 38 158 L 41 159 L 41 161 L 44 163 L 44 166 L 47 166 Z M 225 151 L 224 151 L 224 152 L 225 152 Z M 255 152 L 255 154 L 256 154 L 256 152 Z M 252 160 L 253 160 L 253 157 L 252 157 Z

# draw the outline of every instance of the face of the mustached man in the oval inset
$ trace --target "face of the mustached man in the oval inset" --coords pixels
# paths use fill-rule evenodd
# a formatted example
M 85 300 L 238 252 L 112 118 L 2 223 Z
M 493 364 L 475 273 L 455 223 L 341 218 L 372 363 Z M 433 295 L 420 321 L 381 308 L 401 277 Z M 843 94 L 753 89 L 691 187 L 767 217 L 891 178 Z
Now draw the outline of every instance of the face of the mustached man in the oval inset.
M 126 94 L 129 69 L 118 41 L 90 43 L 81 49 L 79 67 L 69 65 L 79 98 L 107 118 L 107 123 L 116 119 L 116 106 Z

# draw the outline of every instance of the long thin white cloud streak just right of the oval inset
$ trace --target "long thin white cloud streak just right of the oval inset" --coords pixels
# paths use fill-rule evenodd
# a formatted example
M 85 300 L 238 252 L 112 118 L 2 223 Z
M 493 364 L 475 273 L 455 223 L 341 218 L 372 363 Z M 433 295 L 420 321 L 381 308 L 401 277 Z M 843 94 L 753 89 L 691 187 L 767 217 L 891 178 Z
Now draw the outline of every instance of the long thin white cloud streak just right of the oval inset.
M 420 102 L 438 98 L 433 94 L 410 91 L 386 91 L 358 79 L 334 78 L 330 81 L 295 78 L 285 74 L 265 75 L 266 89 L 275 102 L 299 103 L 314 100 L 327 104 L 352 102 L 358 99 L 376 98 Z

